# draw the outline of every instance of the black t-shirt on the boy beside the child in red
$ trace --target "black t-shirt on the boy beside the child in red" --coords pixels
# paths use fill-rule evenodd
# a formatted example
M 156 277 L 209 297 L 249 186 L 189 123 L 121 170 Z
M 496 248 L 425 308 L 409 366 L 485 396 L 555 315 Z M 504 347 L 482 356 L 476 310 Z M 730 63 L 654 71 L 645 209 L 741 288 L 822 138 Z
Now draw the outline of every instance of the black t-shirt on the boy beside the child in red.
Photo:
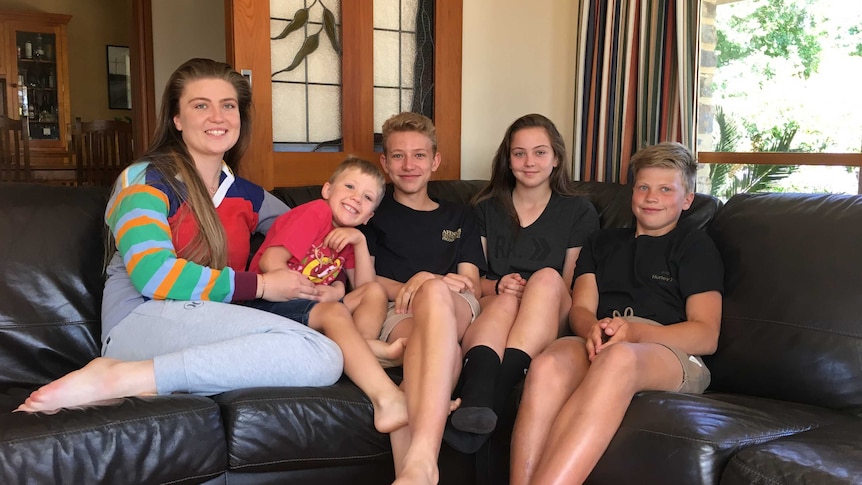
M 361 227 L 379 276 L 402 283 L 420 271 L 456 273 L 459 263 L 485 272 L 482 241 L 468 206 L 434 200 L 433 211 L 413 210 L 387 193 L 374 217 Z

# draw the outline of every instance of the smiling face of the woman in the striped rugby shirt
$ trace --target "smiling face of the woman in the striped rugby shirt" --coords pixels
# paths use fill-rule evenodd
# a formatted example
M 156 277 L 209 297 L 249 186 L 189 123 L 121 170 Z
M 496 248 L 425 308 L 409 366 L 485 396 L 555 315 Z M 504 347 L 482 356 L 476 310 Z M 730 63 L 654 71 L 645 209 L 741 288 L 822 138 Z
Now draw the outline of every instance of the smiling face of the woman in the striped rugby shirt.
M 174 126 L 195 160 L 221 161 L 239 139 L 240 113 L 236 90 L 223 80 L 204 78 L 185 85 Z

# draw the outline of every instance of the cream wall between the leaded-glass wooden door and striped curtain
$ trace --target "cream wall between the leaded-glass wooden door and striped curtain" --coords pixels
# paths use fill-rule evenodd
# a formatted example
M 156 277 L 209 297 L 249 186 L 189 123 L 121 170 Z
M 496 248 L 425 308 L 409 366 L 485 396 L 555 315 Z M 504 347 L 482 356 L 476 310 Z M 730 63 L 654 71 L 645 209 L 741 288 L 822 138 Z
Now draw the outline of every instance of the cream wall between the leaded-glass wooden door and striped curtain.
M 571 161 L 578 4 L 464 1 L 462 179 L 487 179 L 506 128 L 528 113 L 554 121 Z

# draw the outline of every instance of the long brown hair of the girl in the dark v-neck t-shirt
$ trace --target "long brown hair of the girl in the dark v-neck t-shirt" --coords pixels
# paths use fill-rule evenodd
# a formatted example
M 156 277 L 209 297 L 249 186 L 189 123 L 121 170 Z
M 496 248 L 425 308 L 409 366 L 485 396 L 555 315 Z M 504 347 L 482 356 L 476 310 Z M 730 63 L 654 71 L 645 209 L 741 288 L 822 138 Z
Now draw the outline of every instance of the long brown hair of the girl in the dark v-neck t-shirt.
M 512 202 L 512 190 L 514 190 L 516 182 L 511 166 L 512 139 L 515 137 L 515 133 L 525 128 L 542 128 L 551 141 L 551 149 L 557 160 L 557 166 L 551 170 L 551 176 L 548 180 L 551 184 L 551 190 L 566 197 L 578 195 L 574 184 L 572 184 L 572 177 L 569 175 L 569 167 L 566 163 L 566 143 L 554 122 L 535 113 L 518 118 L 506 129 L 503 141 L 497 148 L 497 153 L 491 164 L 491 180 L 473 198 L 474 205 L 483 200 L 494 199 L 509 215 L 516 230 L 521 227 L 521 221 L 518 219 L 518 212 Z

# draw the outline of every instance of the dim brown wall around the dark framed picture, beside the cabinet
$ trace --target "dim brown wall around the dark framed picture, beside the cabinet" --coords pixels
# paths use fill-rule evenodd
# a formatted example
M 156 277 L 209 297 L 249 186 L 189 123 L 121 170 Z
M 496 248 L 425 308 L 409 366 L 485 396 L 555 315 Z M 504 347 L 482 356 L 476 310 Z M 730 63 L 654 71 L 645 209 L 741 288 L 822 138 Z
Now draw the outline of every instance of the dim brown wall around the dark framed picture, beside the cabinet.
M 69 92 L 72 118 L 131 117 L 129 110 L 108 109 L 107 48 L 129 45 L 131 0 L 0 0 L 0 10 L 71 15 L 69 21 Z

